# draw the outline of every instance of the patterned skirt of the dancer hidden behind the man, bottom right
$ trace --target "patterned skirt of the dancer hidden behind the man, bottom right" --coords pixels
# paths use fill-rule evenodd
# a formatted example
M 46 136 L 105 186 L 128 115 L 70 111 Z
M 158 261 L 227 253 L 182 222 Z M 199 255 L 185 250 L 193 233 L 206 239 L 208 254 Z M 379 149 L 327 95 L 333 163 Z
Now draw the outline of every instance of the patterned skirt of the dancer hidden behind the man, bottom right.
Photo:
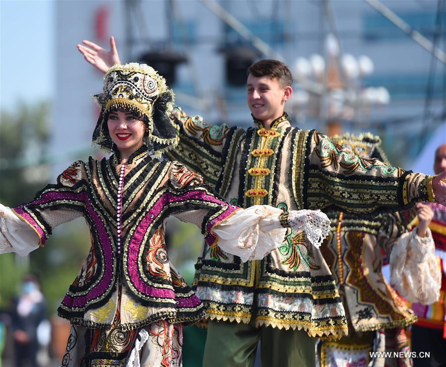
M 337 341 L 319 341 L 316 360 L 318 367 L 413 365 L 405 330 L 402 328 L 353 331 Z

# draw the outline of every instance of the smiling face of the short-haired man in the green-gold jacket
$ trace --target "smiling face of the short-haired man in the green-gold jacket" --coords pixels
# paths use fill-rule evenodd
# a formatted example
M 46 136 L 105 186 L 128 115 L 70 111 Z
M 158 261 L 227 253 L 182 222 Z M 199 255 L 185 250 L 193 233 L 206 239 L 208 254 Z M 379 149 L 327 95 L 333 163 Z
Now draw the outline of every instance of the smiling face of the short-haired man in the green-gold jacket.
M 248 75 L 247 101 L 251 113 L 262 122 L 278 119 L 283 115 L 290 90 L 291 87 L 282 87 L 276 78 Z

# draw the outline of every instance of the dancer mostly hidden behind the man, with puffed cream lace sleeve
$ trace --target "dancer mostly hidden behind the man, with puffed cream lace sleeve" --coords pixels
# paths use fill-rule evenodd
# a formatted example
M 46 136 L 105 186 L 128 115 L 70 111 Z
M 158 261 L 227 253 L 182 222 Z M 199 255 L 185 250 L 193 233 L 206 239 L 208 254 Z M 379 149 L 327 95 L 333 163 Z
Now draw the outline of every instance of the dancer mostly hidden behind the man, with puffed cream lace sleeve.
M 370 133 L 335 136 L 332 141 L 364 160 L 387 161 L 381 139 Z M 416 205 L 420 223 L 412 233 L 406 233 L 399 213 L 375 217 L 326 213 L 331 229 L 320 249 L 336 279 L 349 333 L 337 341 L 318 342 L 319 366 L 412 364 L 410 356 L 372 358 L 370 352 L 410 352 L 404 328 L 416 321 L 415 314 L 382 275 L 382 251 L 390 256 L 392 279 L 396 280 L 392 283 L 400 294 L 410 293 L 425 305 L 439 296 L 441 274 L 436 269 L 434 242 L 428 228 L 433 213 L 426 204 Z

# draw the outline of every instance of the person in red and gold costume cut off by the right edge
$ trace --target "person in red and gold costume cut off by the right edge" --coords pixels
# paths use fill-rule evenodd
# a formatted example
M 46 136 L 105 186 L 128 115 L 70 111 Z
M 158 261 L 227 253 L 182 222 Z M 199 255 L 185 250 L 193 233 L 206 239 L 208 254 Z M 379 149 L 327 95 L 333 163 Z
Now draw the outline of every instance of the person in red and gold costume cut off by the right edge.
M 435 151 L 434 172 L 446 170 L 446 143 Z M 432 305 L 412 303 L 409 306 L 418 316 L 412 326 L 412 351 L 430 352 L 430 358 L 415 358 L 414 366 L 444 366 L 446 361 L 446 208 L 437 203 L 428 204 L 434 211 L 430 229 L 435 242 L 437 264 L 442 273 L 440 297 Z M 412 225 L 417 225 L 414 221 Z M 406 297 L 407 298 L 407 297 Z M 416 302 L 408 298 L 409 301 Z

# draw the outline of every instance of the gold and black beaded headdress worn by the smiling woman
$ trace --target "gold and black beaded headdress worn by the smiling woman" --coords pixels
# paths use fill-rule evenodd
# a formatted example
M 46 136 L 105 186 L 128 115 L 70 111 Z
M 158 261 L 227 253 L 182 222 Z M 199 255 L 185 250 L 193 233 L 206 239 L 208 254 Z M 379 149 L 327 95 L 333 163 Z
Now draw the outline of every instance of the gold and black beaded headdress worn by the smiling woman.
M 93 97 L 101 107 L 93 132 L 93 144 L 108 151 L 113 149 L 107 118 L 111 111 L 117 110 L 142 116 L 147 128 L 144 144 L 154 156 L 160 156 L 178 144 L 174 125 L 169 118 L 174 93 L 154 68 L 135 62 L 114 65 L 104 76 L 103 92 Z

